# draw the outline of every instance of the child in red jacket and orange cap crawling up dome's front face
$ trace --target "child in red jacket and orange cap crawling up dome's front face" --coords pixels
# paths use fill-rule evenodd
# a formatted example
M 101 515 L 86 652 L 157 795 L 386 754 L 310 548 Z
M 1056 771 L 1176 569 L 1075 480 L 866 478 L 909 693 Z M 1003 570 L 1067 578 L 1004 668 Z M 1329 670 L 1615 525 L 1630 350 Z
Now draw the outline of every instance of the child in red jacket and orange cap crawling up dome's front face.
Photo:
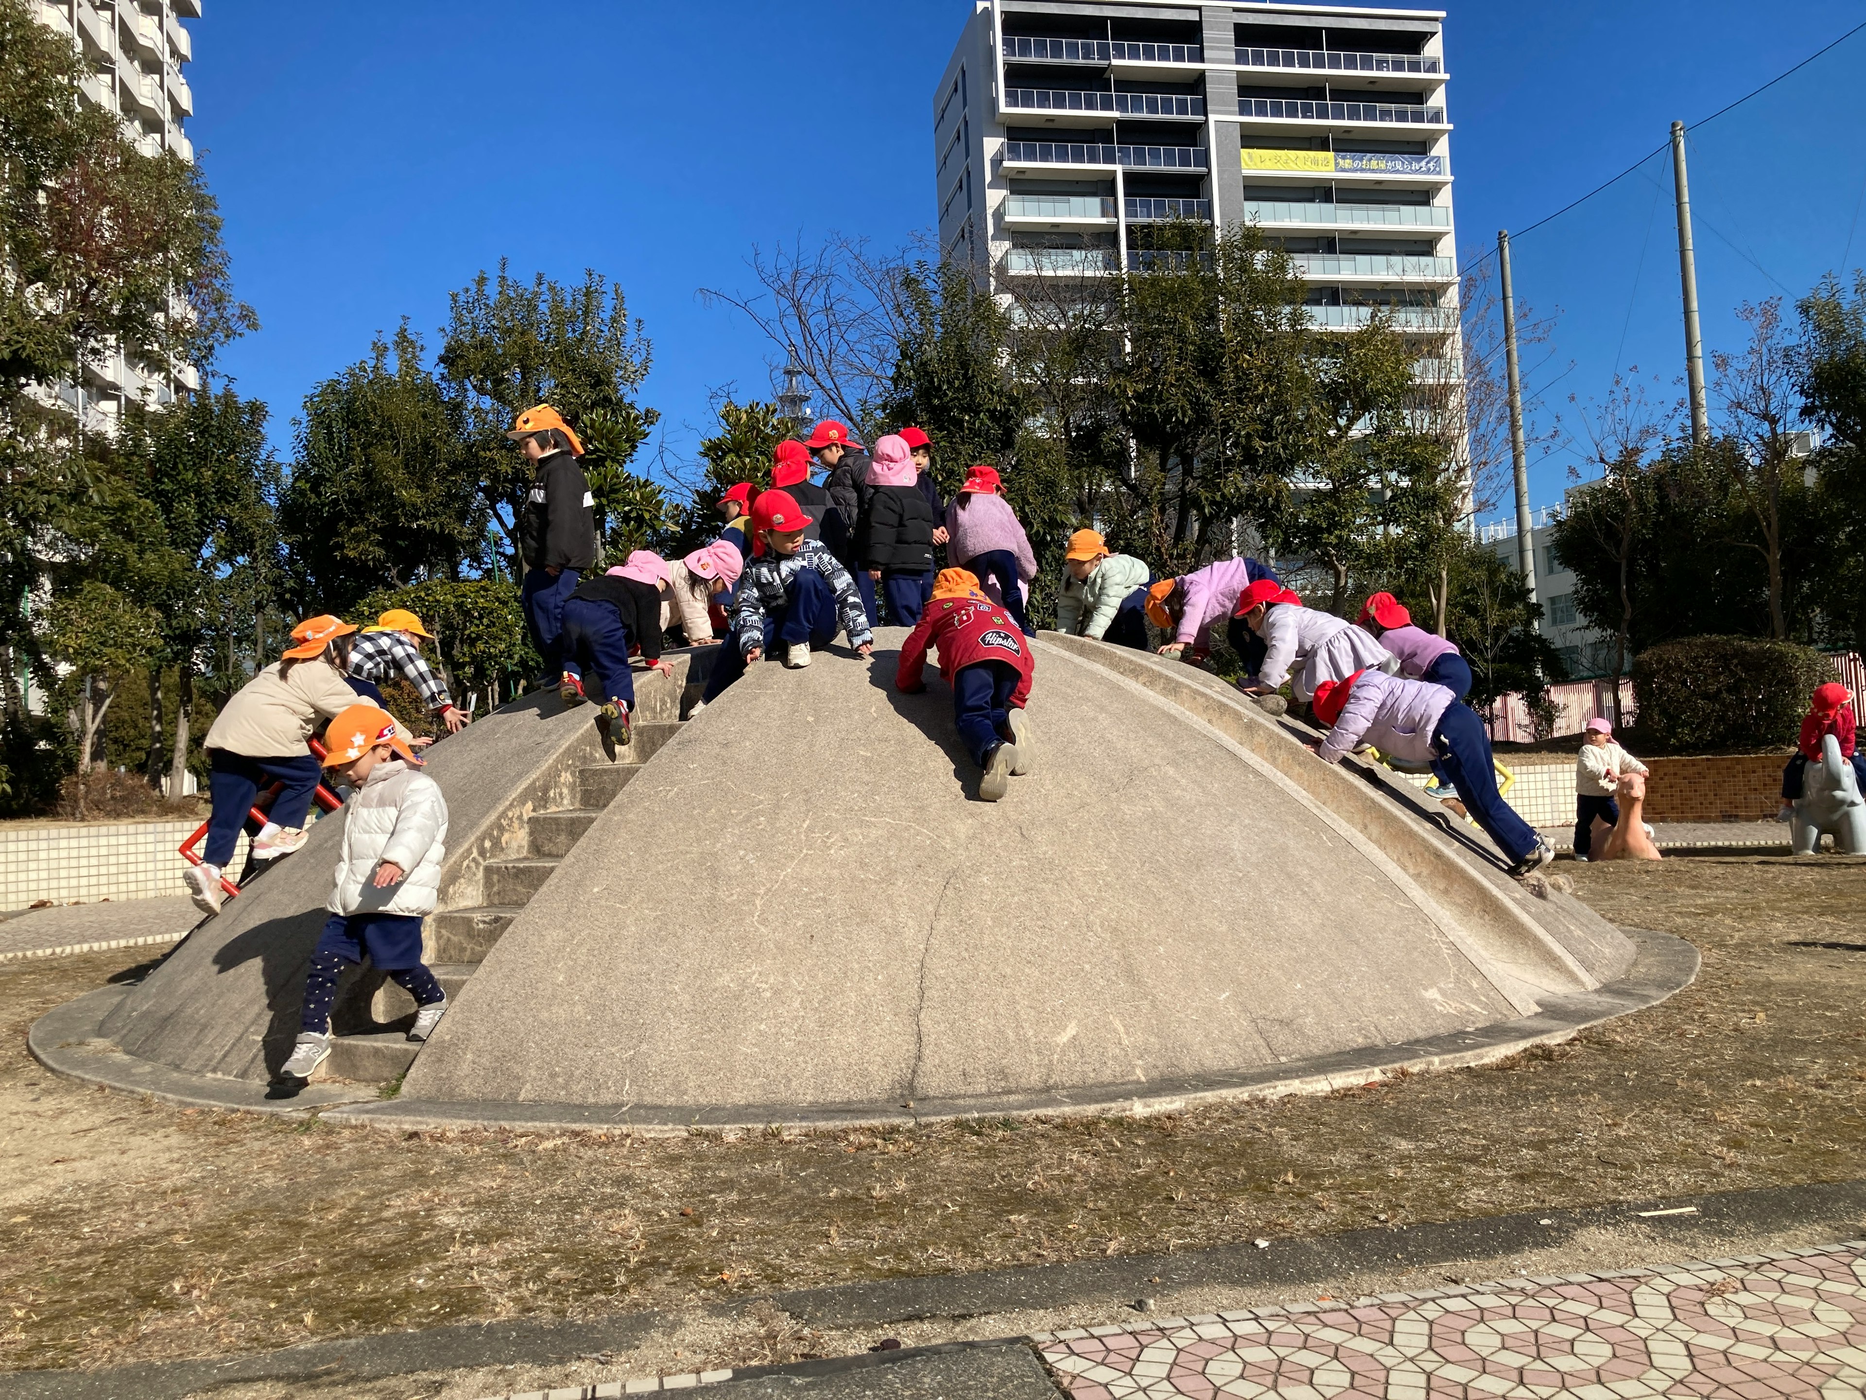
M 898 691 L 924 691 L 927 648 L 939 648 L 939 672 L 952 687 L 952 717 L 959 737 L 983 771 L 978 795 L 1004 797 L 1011 775 L 1030 771 L 1030 642 L 1011 610 L 978 590 L 978 575 L 940 569 L 927 614 L 901 642 Z

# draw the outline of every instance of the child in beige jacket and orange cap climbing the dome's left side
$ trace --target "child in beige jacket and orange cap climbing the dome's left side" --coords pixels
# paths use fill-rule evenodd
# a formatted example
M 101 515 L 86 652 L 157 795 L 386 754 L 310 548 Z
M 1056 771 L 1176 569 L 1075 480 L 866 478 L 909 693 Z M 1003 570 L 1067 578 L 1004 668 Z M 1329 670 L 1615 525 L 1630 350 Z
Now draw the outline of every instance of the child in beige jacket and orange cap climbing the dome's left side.
M 233 859 L 261 782 L 278 778 L 285 786 L 254 836 L 252 859 L 272 861 L 304 846 L 304 818 L 319 777 L 306 741 L 321 719 L 356 704 L 356 693 L 343 679 L 355 631 L 328 612 L 300 622 L 291 629 L 285 655 L 246 681 L 207 730 L 213 814 L 202 864 L 181 872 L 202 913 L 220 913 L 220 872 Z

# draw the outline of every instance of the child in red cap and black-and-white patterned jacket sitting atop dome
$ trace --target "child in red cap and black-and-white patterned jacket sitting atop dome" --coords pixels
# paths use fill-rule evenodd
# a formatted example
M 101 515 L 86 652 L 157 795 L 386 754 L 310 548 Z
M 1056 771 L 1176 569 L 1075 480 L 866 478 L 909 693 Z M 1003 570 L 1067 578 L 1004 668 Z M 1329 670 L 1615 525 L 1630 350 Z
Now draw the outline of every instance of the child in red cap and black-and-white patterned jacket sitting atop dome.
M 784 644 L 784 665 L 799 670 L 810 665 L 810 648 L 823 650 L 838 631 L 849 633 L 849 646 L 860 655 L 875 650 L 868 610 L 855 579 L 821 539 L 804 539 L 804 515 L 787 491 L 763 491 L 752 502 L 752 534 L 763 551 L 754 554 L 739 577 L 731 601 L 731 642 L 713 666 L 705 693 L 689 719 L 713 704 L 745 668 Z

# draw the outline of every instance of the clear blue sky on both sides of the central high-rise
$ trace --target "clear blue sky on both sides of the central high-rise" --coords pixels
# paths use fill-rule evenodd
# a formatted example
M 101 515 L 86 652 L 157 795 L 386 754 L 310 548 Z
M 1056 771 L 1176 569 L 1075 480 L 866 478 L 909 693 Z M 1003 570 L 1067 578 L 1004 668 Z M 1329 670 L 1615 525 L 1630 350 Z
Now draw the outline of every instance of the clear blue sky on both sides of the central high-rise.
M 832 230 L 879 245 L 933 222 L 933 84 L 968 0 L 812 6 L 276 6 L 192 21 L 188 133 L 263 330 L 222 368 L 289 420 L 403 315 L 429 338 L 448 291 L 513 273 L 618 280 L 646 321 L 670 461 L 707 399 L 767 392 L 767 347 L 698 287 L 745 287 L 754 245 Z M 1461 254 L 1526 228 L 1866 19 L 1857 0 L 1452 0 L 1448 106 Z M 1735 306 L 1866 263 L 1866 34 L 1692 133 L 1709 349 Z M 1855 97 L 1847 97 L 1855 93 Z M 1849 246 L 1851 245 L 1851 246 Z M 1679 396 L 1670 166 L 1657 157 L 1515 245 L 1517 297 L 1560 312 L 1530 364 L 1539 418 L 1638 366 Z M 1567 483 L 1539 455 L 1536 504 Z

